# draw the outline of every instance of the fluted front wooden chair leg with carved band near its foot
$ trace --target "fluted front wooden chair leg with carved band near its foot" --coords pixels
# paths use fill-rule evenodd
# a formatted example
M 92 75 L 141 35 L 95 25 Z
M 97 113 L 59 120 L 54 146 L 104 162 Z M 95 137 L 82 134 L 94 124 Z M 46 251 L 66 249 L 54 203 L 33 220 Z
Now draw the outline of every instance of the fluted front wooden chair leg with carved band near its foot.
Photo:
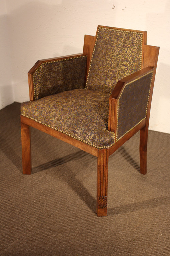
M 97 216 L 107 216 L 108 149 L 98 151 L 97 157 Z

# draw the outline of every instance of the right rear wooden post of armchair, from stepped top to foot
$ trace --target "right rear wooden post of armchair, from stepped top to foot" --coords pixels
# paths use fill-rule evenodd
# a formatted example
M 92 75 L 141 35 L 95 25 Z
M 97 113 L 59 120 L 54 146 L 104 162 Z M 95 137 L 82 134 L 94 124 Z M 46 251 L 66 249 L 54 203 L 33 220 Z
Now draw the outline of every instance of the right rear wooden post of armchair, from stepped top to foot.
M 147 173 L 147 141 L 148 141 L 148 127 L 149 127 L 149 116 L 151 109 L 151 100 L 153 94 L 153 86 L 155 81 L 156 67 L 158 61 L 159 47 L 145 45 L 144 49 L 144 67 L 150 65 L 154 67 L 152 84 L 150 90 L 150 97 L 148 102 L 147 116 L 146 116 L 146 124 L 140 130 L 140 172 L 142 174 Z

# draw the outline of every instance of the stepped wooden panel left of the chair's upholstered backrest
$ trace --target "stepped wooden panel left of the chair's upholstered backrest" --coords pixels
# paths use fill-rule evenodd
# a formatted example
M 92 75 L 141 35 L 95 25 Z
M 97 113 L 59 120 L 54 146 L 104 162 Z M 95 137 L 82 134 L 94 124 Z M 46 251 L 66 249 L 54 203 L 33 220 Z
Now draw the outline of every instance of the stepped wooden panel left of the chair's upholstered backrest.
M 90 60 L 93 53 L 94 45 L 95 45 L 95 37 L 93 35 L 84 35 L 83 53 L 87 54 L 86 79 L 87 79 L 87 74 L 90 66 Z

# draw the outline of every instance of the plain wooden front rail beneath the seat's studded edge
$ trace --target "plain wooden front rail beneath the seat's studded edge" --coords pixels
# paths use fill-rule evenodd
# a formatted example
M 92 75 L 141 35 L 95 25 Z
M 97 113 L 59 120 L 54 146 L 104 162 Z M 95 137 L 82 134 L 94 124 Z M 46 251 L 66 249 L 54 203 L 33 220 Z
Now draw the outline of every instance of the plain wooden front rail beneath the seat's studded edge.
M 26 125 L 29 125 L 31 127 L 34 127 L 34 128 L 36 128 L 40 131 L 43 131 L 43 132 L 45 132 L 45 133 L 47 133 L 47 134 L 49 134 L 49 135 L 51 135 L 51 136 L 53 136 L 57 139 L 65 141 L 65 142 L 67 142 L 67 143 L 69 143 L 69 144 L 71 144 L 75 147 L 78 147 L 81 150 L 83 150 L 83 151 L 85 151 L 85 152 L 87 152 L 91 155 L 98 156 L 98 149 L 97 148 L 92 147 L 92 146 L 90 146 L 90 145 L 88 145 L 84 142 L 81 142 L 77 139 L 74 139 L 74 138 L 72 138 L 72 137 L 70 137 L 70 136 L 68 136 L 68 135 L 66 135 L 62 132 L 56 131 L 56 130 L 48 127 L 48 126 L 40 124 L 40 123 L 30 119 L 30 118 L 22 116 L 22 115 L 21 115 L 21 122 L 26 124 Z

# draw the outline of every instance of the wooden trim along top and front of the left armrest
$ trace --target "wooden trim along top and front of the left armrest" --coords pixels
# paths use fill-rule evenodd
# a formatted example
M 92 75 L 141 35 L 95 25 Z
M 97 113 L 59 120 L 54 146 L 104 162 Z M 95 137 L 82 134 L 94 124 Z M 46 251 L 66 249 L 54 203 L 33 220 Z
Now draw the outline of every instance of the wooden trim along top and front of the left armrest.
M 81 56 L 86 56 L 87 54 L 84 53 L 78 53 L 78 54 L 71 54 L 67 56 L 61 56 L 61 57 L 55 57 L 55 58 L 50 58 L 50 59 L 42 59 L 38 60 L 35 65 L 28 71 L 28 85 L 29 85 L 29 95 L 30 95 L 30 101 L 34 101 L 34 84 L 33 84 L 33 74 L 34 72 L 39 68 L 39 66 L 42 63 L 50 62 L 50 61 L 55 61 L 55 60 L 64 60 L 64 59 L 69 59 L 69 58 L 75 58 L 75 57 L 81 57 Z

